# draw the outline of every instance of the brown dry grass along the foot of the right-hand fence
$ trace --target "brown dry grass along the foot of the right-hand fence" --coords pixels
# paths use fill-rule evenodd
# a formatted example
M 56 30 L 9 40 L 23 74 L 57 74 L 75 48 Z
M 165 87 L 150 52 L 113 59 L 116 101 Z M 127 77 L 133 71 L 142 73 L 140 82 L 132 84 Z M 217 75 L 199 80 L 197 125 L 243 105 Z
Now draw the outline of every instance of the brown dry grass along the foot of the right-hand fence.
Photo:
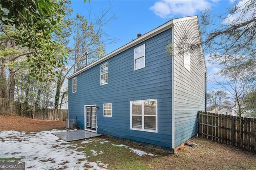
M 196 147 L 185 145 L 175 154 L 158 158 L 153 169 L 190 169 L 190 170 L 256 170 L 256 153 L 220 144 L 204 138 L 194 138 Z

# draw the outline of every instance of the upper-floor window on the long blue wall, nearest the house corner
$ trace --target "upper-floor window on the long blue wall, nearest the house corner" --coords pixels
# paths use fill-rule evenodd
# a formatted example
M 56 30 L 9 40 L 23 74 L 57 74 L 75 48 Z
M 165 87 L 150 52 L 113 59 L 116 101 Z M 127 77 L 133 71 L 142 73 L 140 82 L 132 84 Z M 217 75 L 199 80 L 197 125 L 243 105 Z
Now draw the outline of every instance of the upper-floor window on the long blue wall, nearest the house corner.
M 134 70 L 145 67 L 145 44 L 134 49 Z

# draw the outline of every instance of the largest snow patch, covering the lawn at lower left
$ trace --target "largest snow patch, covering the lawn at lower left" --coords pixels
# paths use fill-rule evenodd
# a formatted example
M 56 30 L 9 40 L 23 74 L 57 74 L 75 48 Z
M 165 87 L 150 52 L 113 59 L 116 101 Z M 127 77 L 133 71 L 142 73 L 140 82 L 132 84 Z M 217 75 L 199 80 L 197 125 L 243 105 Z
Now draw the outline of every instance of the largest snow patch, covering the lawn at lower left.
M 41 132 L 0 132 L 1 158 L 22 158 L 26 169 L 84 169 L 84 165 L 93 170 L 104 170 L 108 165 L 101 162 L 88 162 L 86 154 L 76 151 L 76 144 L 60 140 L 50 130 Z M 88 142 L 88 140 L 87 140 Z M 84 141 L 84 143 L 86 143 Z

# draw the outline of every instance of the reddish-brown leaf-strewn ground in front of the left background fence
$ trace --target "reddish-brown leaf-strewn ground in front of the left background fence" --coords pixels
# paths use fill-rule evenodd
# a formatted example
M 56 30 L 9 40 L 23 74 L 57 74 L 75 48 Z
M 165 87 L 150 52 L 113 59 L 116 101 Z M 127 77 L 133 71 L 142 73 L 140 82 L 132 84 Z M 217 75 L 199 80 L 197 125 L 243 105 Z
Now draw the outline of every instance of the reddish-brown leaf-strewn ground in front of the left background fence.
M 25 132 L 40 132 L 42 130 L 64 129 L 65 121 L 42 121 L 20 116 L 0 115 L 0 131 L 16 130 Z

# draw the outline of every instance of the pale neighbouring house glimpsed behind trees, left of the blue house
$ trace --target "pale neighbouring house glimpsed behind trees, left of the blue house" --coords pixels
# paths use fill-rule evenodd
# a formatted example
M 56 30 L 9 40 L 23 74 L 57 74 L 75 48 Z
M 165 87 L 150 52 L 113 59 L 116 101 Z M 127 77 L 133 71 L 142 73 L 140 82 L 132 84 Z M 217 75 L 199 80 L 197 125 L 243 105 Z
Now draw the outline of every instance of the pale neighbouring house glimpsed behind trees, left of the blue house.
M 53 103 L 55 103 L 56 90 L 57 88 L 53 89 Z M 63 83 L 62 87 L 60 88 L 58 109 L 68 109 L 68 82 Z

